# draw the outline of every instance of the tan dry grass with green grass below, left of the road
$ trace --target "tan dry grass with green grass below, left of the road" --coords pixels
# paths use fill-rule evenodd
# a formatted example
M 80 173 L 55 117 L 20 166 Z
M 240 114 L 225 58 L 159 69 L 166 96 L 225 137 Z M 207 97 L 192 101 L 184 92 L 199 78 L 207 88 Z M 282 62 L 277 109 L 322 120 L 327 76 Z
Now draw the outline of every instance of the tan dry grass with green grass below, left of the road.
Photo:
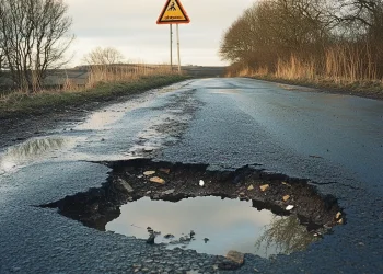
M 31 93 L 16 90 L 0 94 L 0 116 L 12 113 L 45 113 L 66 105 L 90 101 L 108 101 L 187 79 L 165 65 L 128 65 L 93 67 L 85 87 L 65 79 L 62 87 Z

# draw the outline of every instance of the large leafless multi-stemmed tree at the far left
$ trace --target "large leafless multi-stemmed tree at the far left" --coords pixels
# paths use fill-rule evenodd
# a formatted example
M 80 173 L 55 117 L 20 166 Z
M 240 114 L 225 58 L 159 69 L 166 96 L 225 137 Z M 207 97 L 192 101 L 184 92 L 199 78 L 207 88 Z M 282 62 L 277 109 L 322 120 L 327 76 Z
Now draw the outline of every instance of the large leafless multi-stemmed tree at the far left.
M 67 64 L 67 9 L 61 0 L 0 0 L 0 48 L 15 87 L 39 90 L 48 69 Z

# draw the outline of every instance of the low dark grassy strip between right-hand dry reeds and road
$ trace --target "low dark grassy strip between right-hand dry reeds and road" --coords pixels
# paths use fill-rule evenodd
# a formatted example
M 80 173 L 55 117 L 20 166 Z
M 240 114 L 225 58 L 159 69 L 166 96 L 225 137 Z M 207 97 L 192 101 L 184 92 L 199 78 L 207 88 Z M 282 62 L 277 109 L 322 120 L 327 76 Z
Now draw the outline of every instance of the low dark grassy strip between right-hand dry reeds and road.
M 332 82 L 313 83 L 304 80 L 286 80 L 275 77 L 249 77 L 251 79 L 276 82 L 281 84 L 301 85 L 313 89 L 315 92 L 324 92 L 330 94 L 352 95 L 360 98 L 368 98 L 374 100 L 383 100 L 383 88 L 378 84 L 349 84 L 337 85 Z M 305 90 L 310 91 L 310 90 Z

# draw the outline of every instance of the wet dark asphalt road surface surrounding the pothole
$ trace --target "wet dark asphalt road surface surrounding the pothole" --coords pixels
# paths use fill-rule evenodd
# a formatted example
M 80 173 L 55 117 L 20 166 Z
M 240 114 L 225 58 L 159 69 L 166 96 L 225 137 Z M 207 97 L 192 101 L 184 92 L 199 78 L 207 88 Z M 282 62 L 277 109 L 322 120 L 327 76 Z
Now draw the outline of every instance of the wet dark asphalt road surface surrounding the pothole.
M 190 80 L 0 152 L 0 273 L 211 271 L 211 255 L 150 247 L 36 207 L 100 186 L 108 169 L 89 161 L 134 157 L 262 164 L 339 199 L 346 225 L 304 252 L 247 254 L 237 273 L 383 273 L 382 101 L 241 78 Z

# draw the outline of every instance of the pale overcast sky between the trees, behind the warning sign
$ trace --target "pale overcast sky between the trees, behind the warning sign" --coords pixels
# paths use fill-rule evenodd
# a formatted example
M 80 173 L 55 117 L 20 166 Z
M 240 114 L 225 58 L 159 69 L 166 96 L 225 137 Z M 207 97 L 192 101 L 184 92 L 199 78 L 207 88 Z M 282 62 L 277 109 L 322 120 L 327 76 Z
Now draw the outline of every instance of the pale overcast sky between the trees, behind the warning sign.
M 166 0 L 65 1 L 76 35 L 72 66 L 80 65 L 83 55 L 97 46 L 115 47 L 129 61 L 170 62 L 169 25 L 156 25 Z M 181 0 L 192 20 L 179 25 L 182 64 L 224 65 L 218 56 L 222 34 L 254 1 Z M 173 46 L 176 53 L 176 44 Z

